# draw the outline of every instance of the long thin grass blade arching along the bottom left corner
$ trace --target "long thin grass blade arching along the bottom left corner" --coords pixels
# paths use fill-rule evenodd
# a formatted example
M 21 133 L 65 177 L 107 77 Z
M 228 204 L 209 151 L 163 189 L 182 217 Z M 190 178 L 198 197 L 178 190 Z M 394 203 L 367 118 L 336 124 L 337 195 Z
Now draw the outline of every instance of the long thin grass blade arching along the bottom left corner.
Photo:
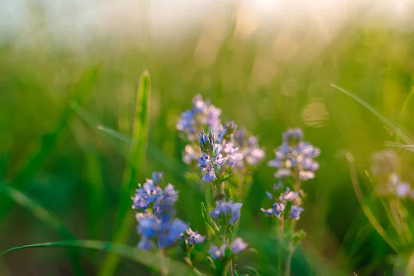
M 161 259 L 152 252 L 141 250 L 139 248 L 124 246 L 121 244 L 111 244 L 110 242 L 93 241 L 93 240 L 72 240 L 64 242 L 46 242 L 43 244 L 29 244 L 27 246 L 17 246 L 4 250 L 0 253 L 0 257 L 14 251 L 23 250 L 26 248 L 47 248 L 47 247 L 76 247 L 76 248 L 88 248 L 95 250 L 102 250 L 110 252 L 115 255 L 132 259 L 133 261 L 144 264 L 153 270 L 159 271 Z M 170 275 L 191 275 L 191 270 L 184 263 L 174 261 L 172 259 L 167 260 L 168 270 Z

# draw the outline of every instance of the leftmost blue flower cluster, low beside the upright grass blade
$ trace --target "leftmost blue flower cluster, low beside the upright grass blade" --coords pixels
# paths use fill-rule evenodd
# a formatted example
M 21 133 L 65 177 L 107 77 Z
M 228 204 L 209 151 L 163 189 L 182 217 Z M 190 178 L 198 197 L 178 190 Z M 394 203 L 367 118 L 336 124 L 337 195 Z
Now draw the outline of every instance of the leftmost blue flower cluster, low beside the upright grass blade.
M 168 184 L 164 190 L 159 184 L 163 179 L 162 172 L 152 173 L 152 179 L 146 179 L 146 183 L 136 190 L 132 197 L 132 208 L 141 210 L 137 213 L 137 230 L 141 235 L 138 247 L 150 250 L 159 246 L 168 248 L 182 237 L 188 225 L 181 219 L 174 218 L 175 203 L 178 200 L 178 192 L 172 184 Z M 200 239 L 197 239 L 197 242 Z

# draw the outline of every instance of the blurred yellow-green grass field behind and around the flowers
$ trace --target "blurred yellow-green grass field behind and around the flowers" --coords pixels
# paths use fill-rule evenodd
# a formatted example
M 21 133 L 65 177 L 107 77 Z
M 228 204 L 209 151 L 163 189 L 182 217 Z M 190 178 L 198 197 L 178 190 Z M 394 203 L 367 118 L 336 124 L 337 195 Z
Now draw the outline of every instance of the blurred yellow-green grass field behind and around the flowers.
M 275 183 L 266 162 L 282 132 L 299 127 L 322 154 L 315 179 L 303 186 L 308 197 L 298 227 L 307 236 L 293 255 L 292 275 L 414 275 L 414 200 L 391 206 L 402 219 L 396 224 L 386 215 L 388 199 L 377 197 L 365 174 L 373 152 L 387 148 L 387 141 L 412 144 L 413 30 L 355 20 L 330 39 L 283 29 L 246 39 L 230 18 L 226 24 L 218 44 L 206 30 L 171 47 L 97 39 L 69 50 L 48 39 L 22 47 L 16 37 L 3 41 L 0 251 L 44 242 L 113 242 L 123 223 L 131 227 L 121 244 L 137 246 L 128 185 L 144 183 L 152 171 L 163 171 L 179 190 L 177 215 L 205 234 L 204 189 L 194 177 L 199 170 L 181 161 L 185 143 L 175 128 L 199 93 L 222 109 L 222 121 L 245 126 L 266 150 L 239 224 L 239 235 L 257 253 L 242 255 L 239 267 L 277 275 L 275 221 L 260 211 L 270 205 L 265 191 Z M 128 159 L 144 70 L 151 83 L 148 124 L 135 133 L 138 153 Z M 398 152 L 403 178 L 413 181 L 413 152 Z M 354 159 L 357 194 L 347 154 Z M 119 213 L 120 206 L 128 211 Z M 108 244 L 64 245 L 10 252 L 0 275 L 108 275 L 105 250 L 123 256 L 113 275 L 157 275 L 151 268 L 156 255 Z M 181 262 L 172 271 L 182 271 L 183 253 L 172 250 L 170 257 Z

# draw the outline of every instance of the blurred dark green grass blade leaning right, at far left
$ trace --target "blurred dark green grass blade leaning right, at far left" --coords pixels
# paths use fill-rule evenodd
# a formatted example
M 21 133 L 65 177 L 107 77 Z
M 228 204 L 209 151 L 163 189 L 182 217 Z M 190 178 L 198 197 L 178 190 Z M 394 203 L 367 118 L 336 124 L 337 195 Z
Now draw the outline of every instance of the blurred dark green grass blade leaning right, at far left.
M 75 114 L 71 105 L 82 104 L 89 97 L 90 94 L 95 88 L 98 79 L 98 68 L 91 67 L 88 68 L 72 88 L 72 95 L 69 104 L 66 106 L 66 109 L 61 113 L 61 117 L 57 120 L 57 126 L 54 130 L 43 135 L 40 141 L 35 142 L 34 150 L 32 150 L 31 156 L 25 160 L 23 166 L 17 175 L 12 179 L 13 185 L 23 188 L 26 186 L 32 179 L 36 176 L 37 172 L 41 169 L 41 166 L 45 163 L 48 157 L 52 154 L 52 151 L 55 149 L 61 133 L 68 126 L 68 122 L 72 119 L 72 116 Z M 10 213 L 10 210 L 14 204 L 14 201 L 9 198 L 0 197 L 0 222 Z

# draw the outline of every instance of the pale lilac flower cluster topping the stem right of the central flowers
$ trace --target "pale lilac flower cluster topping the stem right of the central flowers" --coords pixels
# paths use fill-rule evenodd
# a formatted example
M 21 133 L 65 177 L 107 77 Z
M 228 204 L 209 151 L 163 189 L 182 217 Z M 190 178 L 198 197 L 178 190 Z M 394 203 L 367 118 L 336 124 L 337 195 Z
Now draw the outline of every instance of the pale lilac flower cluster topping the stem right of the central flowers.
M 304 135 L 299 128 L 290 128 L 282 135 L 282 145 L 275 150 L 275 159 L 268 166 L 277 168 L 275 177 L 283 179 L 294 177 L 301 181 L 313 179 L 319 164 L 314 160 L 320 154 L 319 148 L 303 141 Z

